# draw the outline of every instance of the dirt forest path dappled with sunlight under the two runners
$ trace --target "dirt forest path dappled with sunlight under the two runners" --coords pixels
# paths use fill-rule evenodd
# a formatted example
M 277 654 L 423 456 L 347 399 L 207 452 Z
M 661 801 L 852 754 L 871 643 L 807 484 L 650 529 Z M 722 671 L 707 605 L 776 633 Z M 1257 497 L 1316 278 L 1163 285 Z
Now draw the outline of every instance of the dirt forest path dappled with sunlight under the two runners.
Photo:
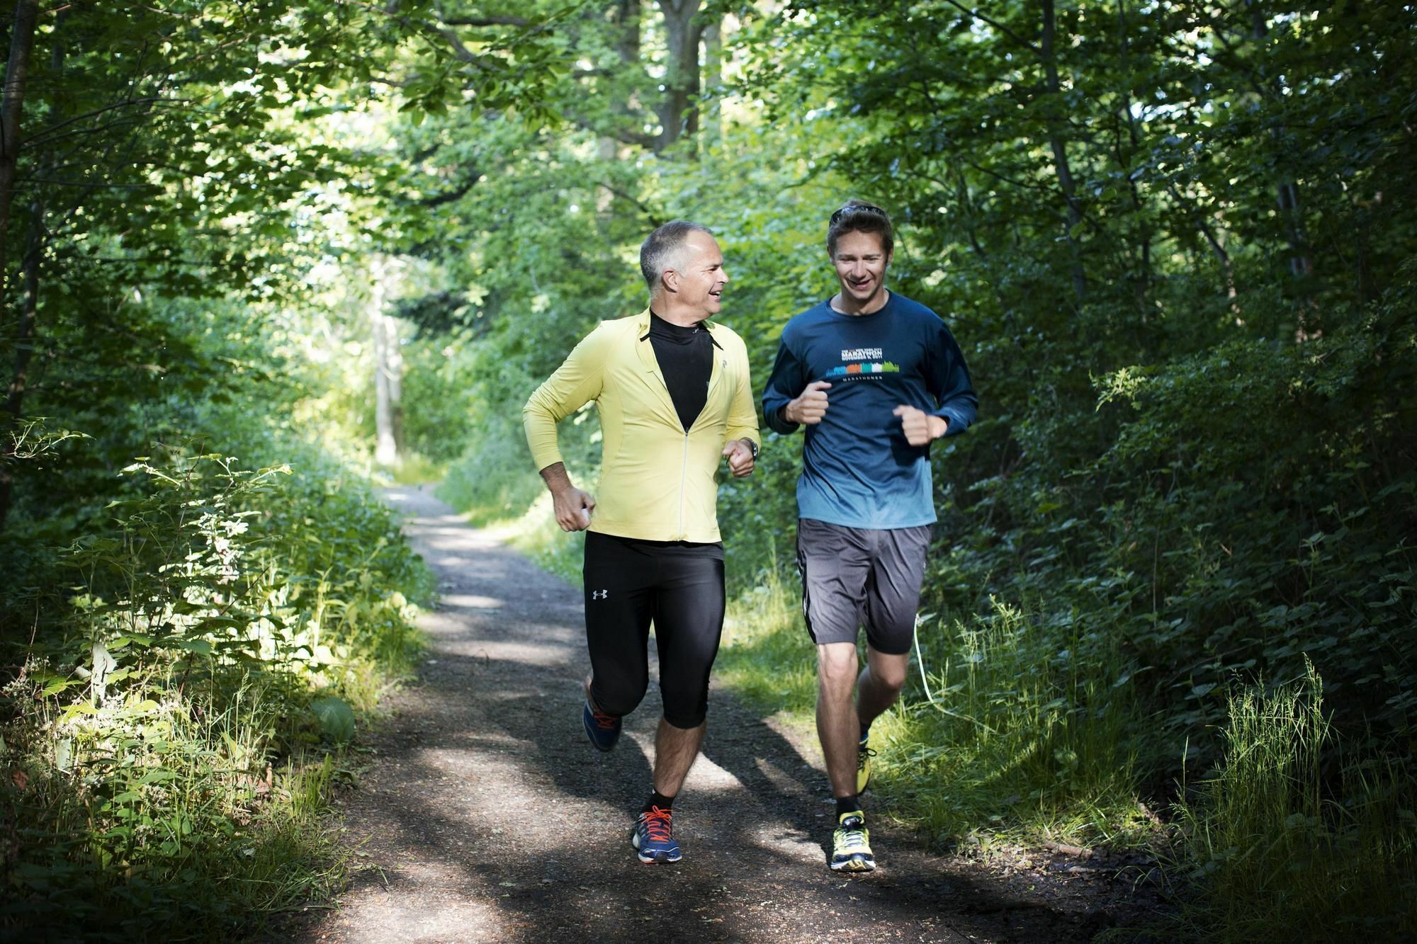
M 833 873 L 815 736 L 717 689 L 674 805 L 683 862 L 640 865 L 628 835 L 649 791 L 657 689 L 616 748 L 595 751 L 580 721 L 580 590 L 431 492 L 387 492 L 442 600 L 422 618 L 418 682 L 391 697 L 366 738 L 371 763 L 337 801 L 353 882 L 282 938 L 1066 943 L 1139 927 L 1161 907 L 1139 858 L 939 855 L 881 815 L 877 870 Z

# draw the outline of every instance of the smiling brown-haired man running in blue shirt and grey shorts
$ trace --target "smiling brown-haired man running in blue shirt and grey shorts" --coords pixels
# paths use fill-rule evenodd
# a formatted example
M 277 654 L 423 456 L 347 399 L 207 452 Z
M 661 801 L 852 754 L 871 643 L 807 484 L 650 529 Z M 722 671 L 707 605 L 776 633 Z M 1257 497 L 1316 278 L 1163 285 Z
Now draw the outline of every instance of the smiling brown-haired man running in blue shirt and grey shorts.
M 978 407 L 945 323 L 886 289 L 893 247 L 880 207 L 852 200 L 832 214 L 826 251 L 840 292 L 788 322 L 762 394 L 772 429 L 806 427 L 798 568 L 818 651 L 816 730 L 836 797 L 830 866 L 842 872 L 876 867 L 860 794 L 870 724 L 905 683 L 935 522 L 930 444 L 964 432 Z M 860 675 L 857 624 L 867 642 Z

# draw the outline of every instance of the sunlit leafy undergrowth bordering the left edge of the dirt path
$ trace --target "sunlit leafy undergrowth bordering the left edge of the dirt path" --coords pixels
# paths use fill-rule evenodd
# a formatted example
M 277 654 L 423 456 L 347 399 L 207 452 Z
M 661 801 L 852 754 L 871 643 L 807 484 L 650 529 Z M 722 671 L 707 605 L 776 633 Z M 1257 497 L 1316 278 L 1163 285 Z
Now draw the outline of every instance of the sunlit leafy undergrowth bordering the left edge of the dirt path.
M 431 581 L 361 479 L 300 458 L 164 452 L 67 546 L 7 534 L 0 930 L 217 940 L 341 883 L 322 814 Z

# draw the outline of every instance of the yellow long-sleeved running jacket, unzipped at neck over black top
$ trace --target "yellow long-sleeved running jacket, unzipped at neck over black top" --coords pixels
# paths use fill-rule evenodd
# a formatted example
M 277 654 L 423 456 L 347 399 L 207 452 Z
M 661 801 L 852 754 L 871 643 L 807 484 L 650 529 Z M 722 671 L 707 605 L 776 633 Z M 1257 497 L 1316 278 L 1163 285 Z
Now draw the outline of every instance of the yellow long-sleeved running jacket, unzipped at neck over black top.
M 731 439 L 758 442 L 743 339 L 703 322 L 714 342 L 708 400 L 684 431 L 649 340 L 649 309 L 585 336 L 521 410 L 536 468 L 561 462 L 555 424 L 595 401 L 599 490 L 589 530 L 659 541 L 717 541 L 714 473 Z

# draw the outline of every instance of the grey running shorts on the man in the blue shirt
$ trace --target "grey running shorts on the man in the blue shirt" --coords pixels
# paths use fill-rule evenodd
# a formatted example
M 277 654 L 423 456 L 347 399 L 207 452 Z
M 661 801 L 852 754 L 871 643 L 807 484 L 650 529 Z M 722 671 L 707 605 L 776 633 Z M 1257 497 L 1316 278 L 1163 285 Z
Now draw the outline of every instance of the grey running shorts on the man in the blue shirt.
M 866 641 L 904 655 L 915 631 L 931 526 L 874 530 L 798 519 L 802 615 L 818 645 Z

